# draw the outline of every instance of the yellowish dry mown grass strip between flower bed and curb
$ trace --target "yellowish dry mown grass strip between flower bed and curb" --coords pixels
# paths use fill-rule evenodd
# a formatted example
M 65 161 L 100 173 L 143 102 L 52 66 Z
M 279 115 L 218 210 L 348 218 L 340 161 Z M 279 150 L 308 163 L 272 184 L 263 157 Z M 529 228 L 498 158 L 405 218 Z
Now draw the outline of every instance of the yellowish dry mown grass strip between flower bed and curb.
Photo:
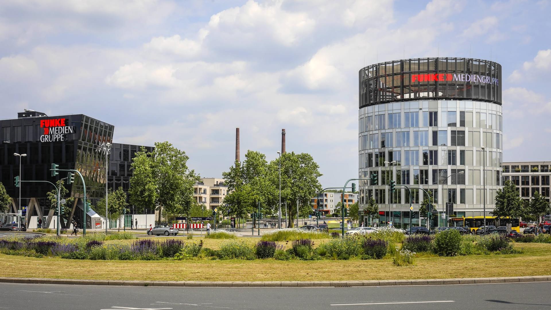
M 216 248 L 223 240 L 207 239 Z M 446 279 L 551 275 L 551 244 L 518 243 L 523 254 L 418 258 L 396 267 L 382 260 L 95 261 L 0 255 L 3 276 L 94 280 L 321 281 Z M 384 271 L 382 271 L 384 270 Z

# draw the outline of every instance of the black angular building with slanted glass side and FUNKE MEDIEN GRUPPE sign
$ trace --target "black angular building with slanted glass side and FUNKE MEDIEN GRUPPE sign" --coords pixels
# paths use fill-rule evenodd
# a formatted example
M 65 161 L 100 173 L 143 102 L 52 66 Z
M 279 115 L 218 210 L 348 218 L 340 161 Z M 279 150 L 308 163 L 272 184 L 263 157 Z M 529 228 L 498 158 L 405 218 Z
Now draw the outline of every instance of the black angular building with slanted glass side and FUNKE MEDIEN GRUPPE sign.
M 141 146 L 112 143 L 114 126 L 93 119 L 84 114 L 47 116 L 44 113 L 25 110 L 18 113 L 17 119 L 0 120 L 0 180 L 12 197 L 12 206 L 8 212 L 19 211 L 19 190 L 21 206 L 27 206 L 26 226 L 29 227 L 31 216 L 44 218 L 42 227 L 50 227 L 55 218 L 56 207 L 50 206 L 47 192 L 53 186 L 42 182 L 27 180 L 44 180 L 56 183 L 66 178 L 67 172 L 51 176 L 52 163 L 60 169 L 75 169 L 82 173 L 86 184 L 88 200 L 93 205 L 105 196 L 105 153 L 100 152 L 102 143 L 111 143 L 109 161 L 108 187 L 116 190 L 120 186 L 127 192 L 132 177 L 131 161 Z M 145 147 L 152 151 L 152 147 Z M 14 153 L 26 154 L 25 157 L 14 156 Z M 21 163 L 19 159 L 21 158 Z M 20 189 L 15 187 L 14 178 L 19 175 L 21 166 Z M 63 218 L 62 228 L 67 228 L 73 218 L 82 227 L 83 220 L 83 184 L 75 176 L 74 184 L 66 184 L 69 190 L 66 197 L 75 197 L 72 210 Z M 154 213 L 154 210 L 145 210 Z M 131 213 L 134 213 L 131 207 Z M 93 228 L 88 212 L 87 227 Z M 129 221 L 129 220 L 128 220 Z M 126 223 L 126 221 L 125 221 Z

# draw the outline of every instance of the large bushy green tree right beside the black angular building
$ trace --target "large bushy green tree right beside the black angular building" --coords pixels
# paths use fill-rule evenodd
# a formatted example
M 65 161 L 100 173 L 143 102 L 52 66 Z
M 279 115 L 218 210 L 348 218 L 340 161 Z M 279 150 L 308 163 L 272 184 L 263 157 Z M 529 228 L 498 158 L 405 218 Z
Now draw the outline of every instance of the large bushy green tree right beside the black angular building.
M 192 205 L 193 185 L 199 180 L 195 171 L 187 168 L 189 157 L 171 143 L 155 142 L 155 149 L 144 149 L 133 158 L 130 179 L 131 201 L 139 207 L 156 207 L 158 221 L 167 216 L 186 214 Z M 143 199 L 143 202 L 139 200 Z M 163 209 L 166 212 L 163 213 Z

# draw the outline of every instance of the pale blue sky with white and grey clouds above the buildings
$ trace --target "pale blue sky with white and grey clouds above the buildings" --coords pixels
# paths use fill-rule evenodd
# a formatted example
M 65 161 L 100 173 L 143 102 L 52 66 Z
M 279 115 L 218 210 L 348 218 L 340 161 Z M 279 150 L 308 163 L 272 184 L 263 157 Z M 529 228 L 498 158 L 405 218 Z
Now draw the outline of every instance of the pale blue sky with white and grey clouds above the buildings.
M 551 1 L 0 2 L 0 118 L 34 109 L 170 141 L 202 177 L 241 153 L 308 152 L 358 175 L 358 71 L 413 57 L 503 65 L 504 160 L 551 159 Z

